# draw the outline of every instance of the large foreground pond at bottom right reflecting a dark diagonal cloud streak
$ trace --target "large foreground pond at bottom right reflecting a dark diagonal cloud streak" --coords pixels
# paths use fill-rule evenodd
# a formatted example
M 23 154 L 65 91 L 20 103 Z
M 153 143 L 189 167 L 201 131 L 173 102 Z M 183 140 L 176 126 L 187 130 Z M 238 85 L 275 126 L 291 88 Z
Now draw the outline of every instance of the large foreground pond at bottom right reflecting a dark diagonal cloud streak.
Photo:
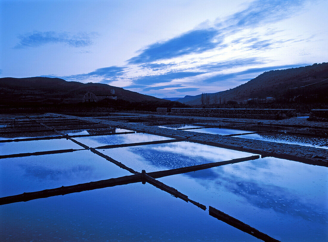
M 327 168 L 277 158 L 159 178 L 281 241 L 327 241 Z

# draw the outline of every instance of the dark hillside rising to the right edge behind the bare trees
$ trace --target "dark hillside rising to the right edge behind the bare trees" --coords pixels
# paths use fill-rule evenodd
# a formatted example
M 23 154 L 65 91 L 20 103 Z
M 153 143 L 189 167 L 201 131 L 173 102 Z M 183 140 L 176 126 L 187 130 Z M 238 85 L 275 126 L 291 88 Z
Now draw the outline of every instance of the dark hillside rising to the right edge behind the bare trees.
M 286 100 L 288 96 L 295 102 L 327 102 L 328 80 L 320 82 L 326 78 L 328 78 L 328 63 L 313 64 L 285 70 L 267 71 L 245 84 L 207 95 L 210 97 L 209 103 L 219 103 L 220 99 L 222 103 L 225 103 L 267 97 Z M 301 87 L 305 85 L 308 86 Z M 176 101 L 186 104 L 202 104 L 201 94 L 185 96 Z

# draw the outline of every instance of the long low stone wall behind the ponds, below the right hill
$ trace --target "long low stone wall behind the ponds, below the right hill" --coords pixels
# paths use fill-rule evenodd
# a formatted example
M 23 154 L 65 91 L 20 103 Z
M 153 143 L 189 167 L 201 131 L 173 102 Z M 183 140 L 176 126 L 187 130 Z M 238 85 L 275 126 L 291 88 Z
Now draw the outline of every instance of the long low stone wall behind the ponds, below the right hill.
M 296 109 L 259 108 L 171 108 L 170 115 L 244 119 L 286 119 L 296 116 Z

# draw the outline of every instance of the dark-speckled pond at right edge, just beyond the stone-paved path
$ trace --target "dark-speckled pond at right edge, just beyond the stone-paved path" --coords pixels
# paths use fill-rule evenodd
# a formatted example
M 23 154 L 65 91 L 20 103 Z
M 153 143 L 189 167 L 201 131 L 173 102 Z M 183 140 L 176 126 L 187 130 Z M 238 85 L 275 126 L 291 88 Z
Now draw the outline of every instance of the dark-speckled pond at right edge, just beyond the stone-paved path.
M 270 134 L 270 133 L 240 135 L 235 137 L 251 139 L 251 140 L 279 142 L 285 144 L 298 144 L 303 146 L 312 146 L 317 148 L 328 149 L 328 138 L 289 135 L 289 134 Z

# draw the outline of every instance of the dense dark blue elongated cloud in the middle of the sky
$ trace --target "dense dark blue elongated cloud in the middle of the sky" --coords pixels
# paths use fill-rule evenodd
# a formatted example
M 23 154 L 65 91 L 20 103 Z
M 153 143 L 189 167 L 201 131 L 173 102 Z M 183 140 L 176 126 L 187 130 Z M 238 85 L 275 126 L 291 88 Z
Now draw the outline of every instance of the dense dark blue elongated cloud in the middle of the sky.
M 191 53 L 201 53 L 217 47 L 222 41 L 223 38 L 219 36 L 217 29 L 191 30 L 178 37 L 154 43 L 140 50 L 141 53 L 128 62 L 129 64 L 141 64 Z

